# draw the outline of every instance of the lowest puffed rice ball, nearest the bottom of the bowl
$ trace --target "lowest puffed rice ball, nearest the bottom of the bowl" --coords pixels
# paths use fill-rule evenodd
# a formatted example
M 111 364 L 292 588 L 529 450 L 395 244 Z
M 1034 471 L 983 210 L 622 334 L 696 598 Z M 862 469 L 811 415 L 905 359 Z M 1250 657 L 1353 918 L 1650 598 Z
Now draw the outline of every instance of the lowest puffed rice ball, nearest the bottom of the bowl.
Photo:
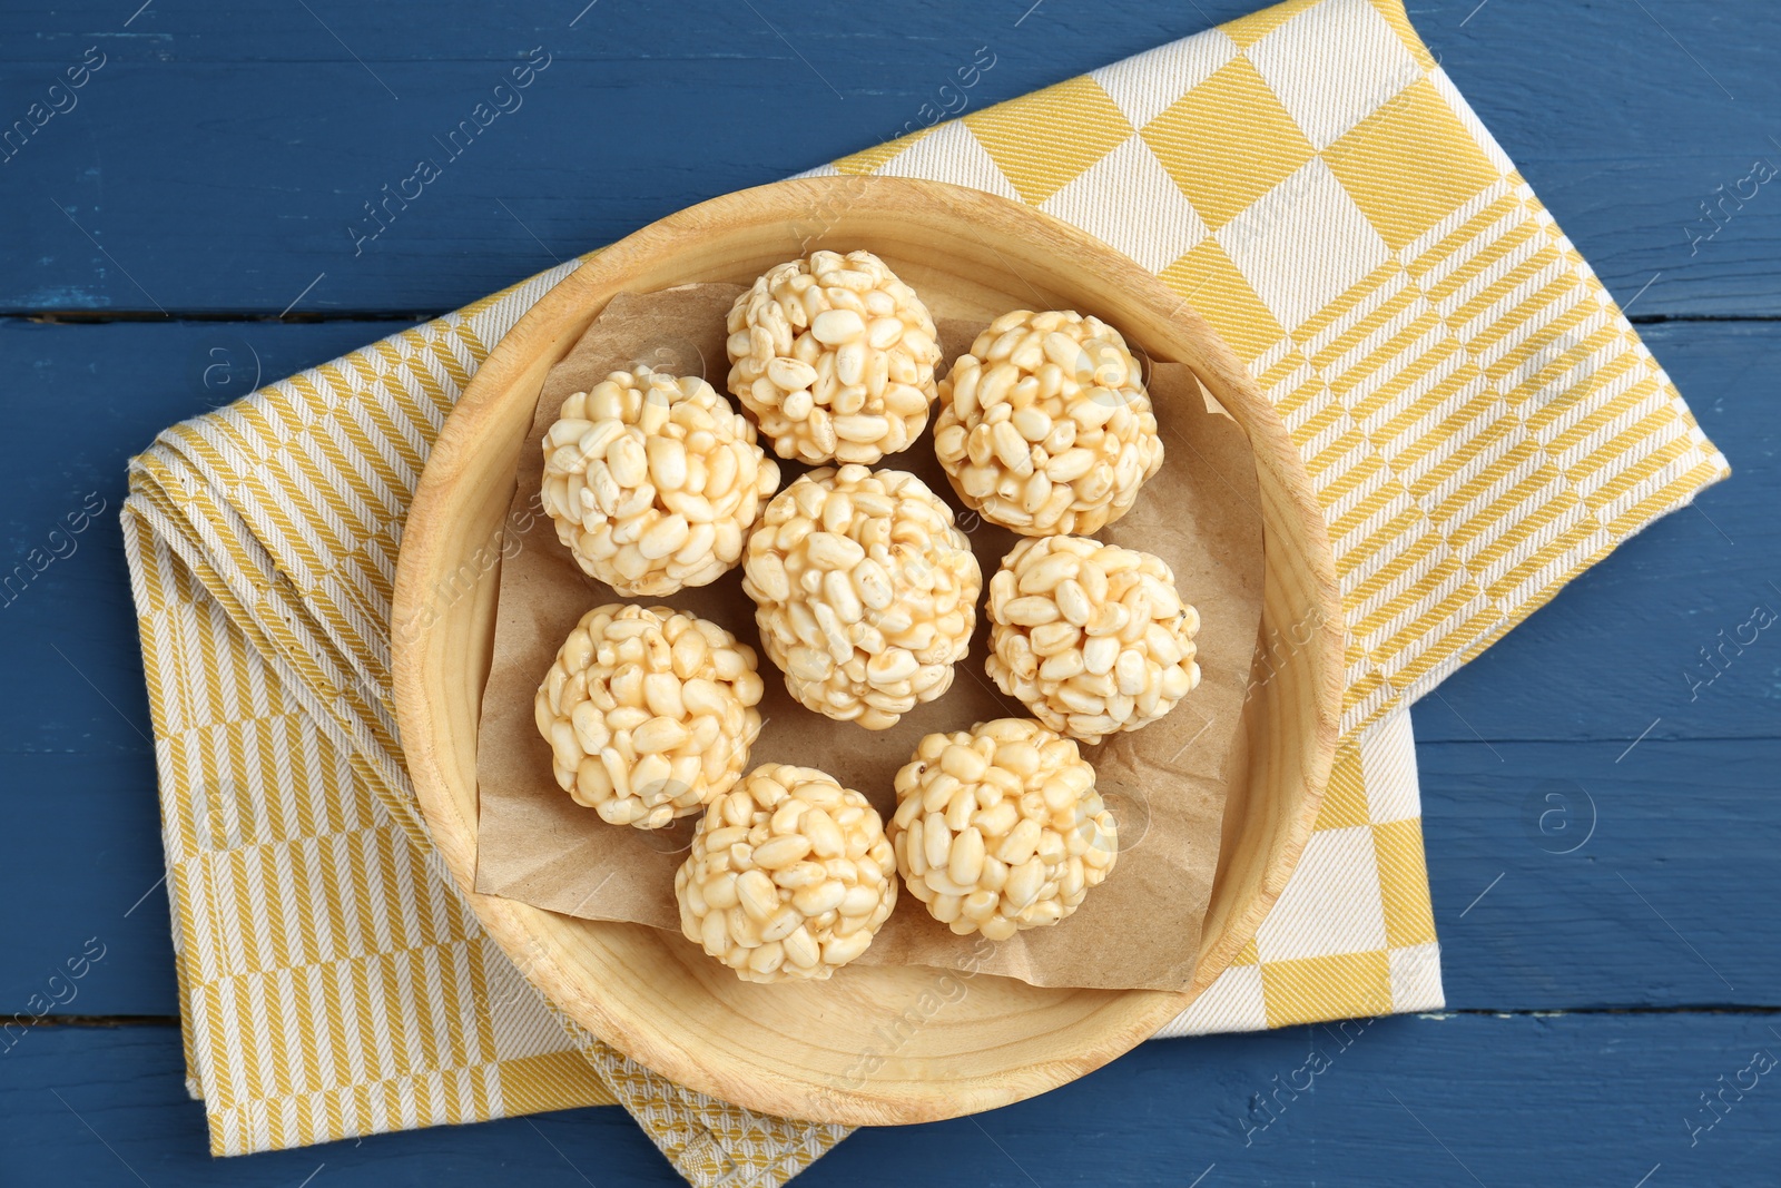
M 673 880 L 680 932 L 743 981 L 823 980 L 896 907 L 878 810 L 816 768 L 762 764 L 698 823 Z

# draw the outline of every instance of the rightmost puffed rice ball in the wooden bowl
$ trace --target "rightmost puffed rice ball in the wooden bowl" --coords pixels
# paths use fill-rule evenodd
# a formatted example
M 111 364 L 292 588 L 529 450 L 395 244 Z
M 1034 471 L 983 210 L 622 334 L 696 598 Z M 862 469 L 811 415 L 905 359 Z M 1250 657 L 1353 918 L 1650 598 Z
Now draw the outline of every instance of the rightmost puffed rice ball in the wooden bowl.
M 988 618 L 996 686 L 1085 743 L 1156 721 L 1200 682 L 1200 614 L 1149 552 L 1022 540 L 990 579 Z

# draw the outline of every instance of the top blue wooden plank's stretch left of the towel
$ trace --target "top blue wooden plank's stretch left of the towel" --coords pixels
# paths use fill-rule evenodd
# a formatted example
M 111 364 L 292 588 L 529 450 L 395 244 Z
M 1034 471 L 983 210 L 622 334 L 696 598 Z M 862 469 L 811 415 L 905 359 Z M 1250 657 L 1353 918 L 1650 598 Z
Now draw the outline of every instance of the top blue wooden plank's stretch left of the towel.
M 367 64 L 301 7 L 271 25 L 216 12 L 183 18 L 187 28 L 166 39 L 121 39 L 69 126 L 52 121 L 9 166 L 32 199 L 18 203 L 23 235 L 0 255 L 0 276 L 11 278 L 0 281 L 0 308 L 278 312 L 321 273 L 305 310 L 451 308 L 554 255 L 889 139 L 923 103 L 940 102 L 942 84 L 956 85 L 978 46 L 990 46 L 996 64 L 969 91 L 974 107 L 1208 20 L 1154 5 L 1104 23 L 1040 11 L 1017 27 L 1013 5 L 903 0 L 835 21 L 817 5 L 757 12 L 711 2 L 609 4 L 570 28 L 575 7 L 509 21 L 459 5 L 465 20 L 438 14 L 420 28 L 365 5 L 322 5 Z M 1234 16 L 1245 5 L 1216 7 Z M 77 27 L 109 20 L 91 12 Z M 151 30 L 151 20 L 153 11 L 134 32 Z M 62 45 L 78 61 L 80 39 Z M 166 62 L 175 46 L 191 57 Z M 292 46 L 303 46 L 297 61 L 283 57 Z M 356 251 L 347 228 L 365 221 L 365 203 L 410 176 L 417 157 L 445 157 L 435 137 L 445 141 L 533 46 L 545 46 L 550 66 L 520 109 Z M 34 46 L 27 64 L 0 66 L 0 94 L 23 102 L 52 78 L 48 68 Z M 192 180 L 194 155 L 208 166 L 203 183 Z M 192 269 L 198 258 L 205 265 Z

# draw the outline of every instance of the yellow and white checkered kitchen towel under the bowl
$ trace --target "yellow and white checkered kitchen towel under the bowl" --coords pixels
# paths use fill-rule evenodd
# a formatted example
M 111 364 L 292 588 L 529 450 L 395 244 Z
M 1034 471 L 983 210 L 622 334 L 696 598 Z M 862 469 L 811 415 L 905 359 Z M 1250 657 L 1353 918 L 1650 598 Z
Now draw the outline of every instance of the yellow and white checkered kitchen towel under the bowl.
M 1004 194 L 1154 269 L 1318 486 L 1350 629 L 1330 791 L 1256 942 L 1163 1035 L 1439 1006 L 1407 705 L 1728 468 L 1396 0 L 1282 4 L 832 169 Z M 693 1183 L 778 1184 L 844 1133 L 702 1099 L 557 1017 L 413 807 L 403 517 L 488 347 L 573 267 L 132 463 L 187 1067 L 219 1154 L 618 1101 Z

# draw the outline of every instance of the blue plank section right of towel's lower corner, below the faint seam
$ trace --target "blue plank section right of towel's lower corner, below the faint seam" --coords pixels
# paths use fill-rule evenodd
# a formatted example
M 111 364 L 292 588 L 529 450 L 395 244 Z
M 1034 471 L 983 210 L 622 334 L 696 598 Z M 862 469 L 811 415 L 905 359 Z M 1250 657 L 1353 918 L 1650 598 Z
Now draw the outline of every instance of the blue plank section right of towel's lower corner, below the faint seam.
M 1781 741 L 1418 743 L 1455 1008 L 1781 1008 Z

